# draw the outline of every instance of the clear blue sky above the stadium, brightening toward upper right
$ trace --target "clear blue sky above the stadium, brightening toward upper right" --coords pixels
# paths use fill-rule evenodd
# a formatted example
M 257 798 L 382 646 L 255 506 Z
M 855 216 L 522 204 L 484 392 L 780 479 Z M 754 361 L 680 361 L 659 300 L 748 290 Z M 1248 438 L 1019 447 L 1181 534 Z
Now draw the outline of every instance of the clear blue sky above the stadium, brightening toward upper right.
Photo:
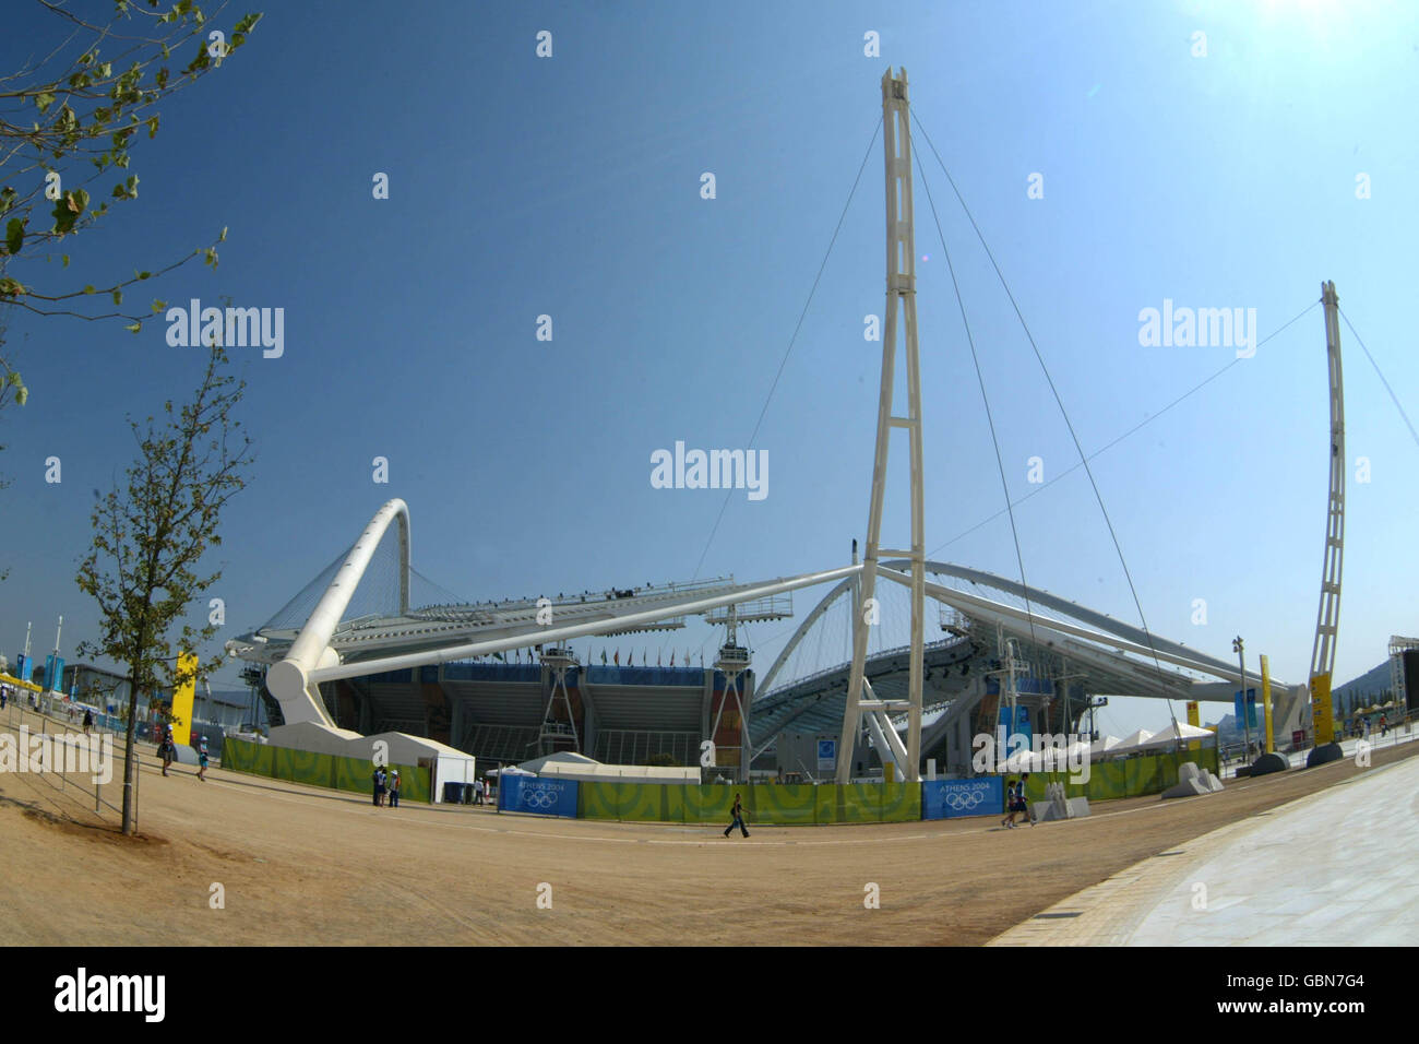
M 7 70 L 54 31 L 38 6 L 10 23 Z M 535 54 L 541 30 L 551 58 Z M 868 31 L 880 57 L 863 54 Z M 226 568 L 221 636 L 271 616 L 390 496 L 410 504 L 416 567 L 468 598 L 688 580 L 701 555 L 701 575 L 739 580 L 844 562 L 871 477 L 880 345 L 863 320 L 883 310 L 880 139 L 753 443 L 769 496 L 734 493 L 707 551 L 724 494 L 653 489 L 650 455 L 677 439 L 748 443 L 888 64 L 907 68 L 912 109 L 1087 452 L 1235 357 L 1139 345 L 1142 308 L 1254 308 L 1266 335 L 1324 278 L 1419 415 L 1413 7 L 410 3 L 396 20 L 387 4 L 270 3 L 245 48 L 165 104 L 160 134 L 135 149 L 140 197 L 68 246 L 68 278 L 99 284 L 228 226 L 220 268 L 189 266 L 153 295 L 285 310 L 280 359 L 234 349 L 258 460 L 213 558 Z M 1050 479 L 1077 455 L 969 223 L 917 148 L 928 548 L 1019 575 L 1003 520 L 948 544 L 1003 494 L 928 186 L 1012 496 L 1032 489 L 1029 457 Z M 376 172 L 387 200 L 373 199 Z M 1027 196 L 1032 173 L 1043 199 Z M 1357 197 L 1362 173 L 1369 199 Z M 551 341 L 536 339 L 543 314 Z M 0 491 L 0 646 L 13 658 L 33 619 L 43 656 L 60 614 L 65 651 L 94 634 L 74 574 L 92 491 L 133 453 L 125 413 L 184 398 L 201 352 L 169 347 L 162 321 L 138 337 L 10 322 L 31 399 L 0 415 L 13 480 Z M 1342 344 L 1338 680 L 1379 662 L 1391 634 L 1419 632 L 1419 446 L 1344 328 Z M 1149 626 L 1225 658 L 1242 634 L 1276 675 L 1304 679 L 1327 428 L 1317 308 L 1094 462 Z M 50 456 L 61 483 L 44 480 Z M 376 456 L 387 484 L 372 482 Z M 884 534 L 900 545 L 905 484 L 894 490 Z M 1032 584 L 1137 622 L 1083 472 L 1016 520 Z M 1192 624 L 1196 598 L 1206 626 Z M 799 611 L 812 602 L 796 597 Z M 761 663 L 788 626 L 751 631 Z M 1165 722 L 1161 705 L 1115 703 L 1104 719 L 1115 732 Z

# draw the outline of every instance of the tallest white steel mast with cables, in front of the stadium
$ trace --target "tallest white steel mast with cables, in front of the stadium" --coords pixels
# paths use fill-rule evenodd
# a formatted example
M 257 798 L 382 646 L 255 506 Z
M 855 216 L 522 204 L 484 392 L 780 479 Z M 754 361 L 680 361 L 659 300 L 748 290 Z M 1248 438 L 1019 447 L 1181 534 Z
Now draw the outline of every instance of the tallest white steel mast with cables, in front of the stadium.
M 927 545 L 922 511 L 921 466 L 921 369 L 917 357 L 917 243 L 911 205 L 911 112 L 907 99 L 907 70 L 883 74 L 883 149 L 887 161 L 887 308 L 883 322 L 881 392 L 877 401 L 877 453 L 873 460 L 871 506 L 867 511 L 867 547 L 863 555 L 861 587 L 853 607 L 853 666 L 843 707 L 843 732 L 837 747 L 837 783 L 847 783 L 853 767 L 853 744 L 863 710 L 901 709 L 900 700 L 877 700 L 867 689 L 868 619 L 876 619 L 877 561 L 907 558 L 911 562 L 911 656 L 907 680 L 905 764 L 898 766 L 907 781 L 921 777 L 921 686 L 925 652 Z M 897 365 L 897 314 L 902 315 L 907 357 L 907 416 L 894 416 L 894 372 Z M 883 494 L 887 487 L 887 450 L 894 428 L 905 428 L 911 439 L 911 550 L 895 551 L 880 544 Z M 895 736 L 895 732 L 893 732 Z

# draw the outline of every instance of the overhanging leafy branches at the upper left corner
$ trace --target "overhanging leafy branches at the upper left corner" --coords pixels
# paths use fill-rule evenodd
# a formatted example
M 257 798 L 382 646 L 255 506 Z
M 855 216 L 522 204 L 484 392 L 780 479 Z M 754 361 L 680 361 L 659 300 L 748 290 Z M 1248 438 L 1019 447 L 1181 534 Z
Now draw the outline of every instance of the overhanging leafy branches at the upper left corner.
M 53 277 L 40 274 L 21 280 L 20 268 L 53 264 L 54 244 L 92 226 L 111 203 L 138 199 L 138 175 L 118 173 L 128 170 L 135 135 L 156 136 L 158 104 L 220 68 L 261 16 L 247 14 L 224 31 L 209 23 L 196 0 L 177 0 L 167 10 L 162 0 L 111 0 L 106 21 L 85 20 L 61 0 L 34 1 L 60 23 L 55 36 L 62 38 L 41 58 L 0 77 L 0 314 L 23 308 L 89 321 L 121 318 L 136 334 L 150 312 L 123 311 L 123 290 L 199 256 L 216 267 L 216 243 L 226 239 L 226 229 L 158 271 L 135 268 L 131 278 L 102 287 L 51 286 Z M 220 3 L 217 11 L 224 9 Z M 186 64 L 169 68 L 173 51 L 187 47 Z M 89 187 L 102 192 L 109 180 L 108 197 L 91 206 Z M 58 260 L 68 267 L 68 254 Z M 112 310 L 104 311 L 108 301 Z M 160 312 L 165 303 L 155 300 L 150 307 Z M 6 359 L 0 330 L 0 408 L 7 391 L 24 403 L 24 384 Z

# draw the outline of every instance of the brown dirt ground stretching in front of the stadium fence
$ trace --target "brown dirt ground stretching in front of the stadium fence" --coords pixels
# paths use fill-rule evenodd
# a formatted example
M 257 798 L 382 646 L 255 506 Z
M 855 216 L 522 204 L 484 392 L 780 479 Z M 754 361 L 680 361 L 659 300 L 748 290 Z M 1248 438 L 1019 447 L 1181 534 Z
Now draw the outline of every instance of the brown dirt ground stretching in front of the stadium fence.
M 186 766 L 162 778 L 143 753 L 136 839 L 72 787 L 0 774 L 7 943 L 979 945 L 1141 859 L 1365 771 L 1342 761 L 1013 831 L 993 818 L 751 822 L 749 839 L 725 839 L 718 827 L 375 808 L 220 768 L 207 783 Z M 1413 754 L 1419 743 L 1374 763 Z M 880 909 L 864 908 L 868 882 Z M 214 883 L 224 909 L 209 903 Z

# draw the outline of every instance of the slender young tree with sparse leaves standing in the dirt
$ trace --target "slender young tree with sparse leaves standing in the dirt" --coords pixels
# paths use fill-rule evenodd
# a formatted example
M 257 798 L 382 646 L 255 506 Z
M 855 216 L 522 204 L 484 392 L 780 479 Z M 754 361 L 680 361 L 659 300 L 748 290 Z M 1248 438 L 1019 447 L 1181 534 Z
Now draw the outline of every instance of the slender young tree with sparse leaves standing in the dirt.
M 217 628 L 184 621 L 189 607 L 221 571 L 203 574 L 201 558 L 221 544 L 221 509 L 244 486 L 251 439 L 240 432 L 233 410 L 245 382 L 226 374 L 226 352 L 211 347 L 201 385 L 176 412 L 172 401 L 156 423 L 129 419 L 138 459 L 128 469 L 128 487 L 109 490 L 94 509 L 94 545 L 79 565 L 79 589 L 99 608 L 98 642 L 82 642 L 79 656 L 102 655 L 128 669 L 128 758 L 123 766 L 123 832 L 133 832 L 133 733 L 139 693 L 206 678 L 220 655 L 194 669 L 179 670 L 170 638 L 182 622 L 179 648 L 196 652 Z

